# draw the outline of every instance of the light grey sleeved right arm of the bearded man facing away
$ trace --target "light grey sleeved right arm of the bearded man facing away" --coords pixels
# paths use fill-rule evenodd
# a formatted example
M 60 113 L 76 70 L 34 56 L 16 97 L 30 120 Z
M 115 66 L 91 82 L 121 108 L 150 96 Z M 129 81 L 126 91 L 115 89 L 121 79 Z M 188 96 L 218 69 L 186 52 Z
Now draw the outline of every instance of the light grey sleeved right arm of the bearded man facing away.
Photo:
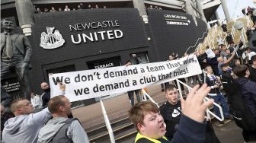
M 89 143 L 88 135 L 85 132 L 85 129 L 82 128 L 80 122 L 78 120 L 74 120 L 68 130 L 67 135 L 69 138 L 72 138 L 74 143 Z

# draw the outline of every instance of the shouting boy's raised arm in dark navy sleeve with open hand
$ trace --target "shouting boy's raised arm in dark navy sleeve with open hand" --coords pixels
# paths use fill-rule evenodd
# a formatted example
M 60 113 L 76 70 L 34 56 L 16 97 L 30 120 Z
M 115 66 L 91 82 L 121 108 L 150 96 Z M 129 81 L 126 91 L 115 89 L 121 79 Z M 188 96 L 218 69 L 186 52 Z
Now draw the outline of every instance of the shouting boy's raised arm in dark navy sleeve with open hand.
M 187 94 L 186 100 L 181 97 L 183 115 L 171 143 L 203 143 L 206 135 L 204 116 L 207 107 L 213 103 L 213 99 L 203 102 L 204 97 L 210 91 L 210 87 L 207 87 L 207 84 L 199 87 L 199 85 L 193 87 L 190 93 Z

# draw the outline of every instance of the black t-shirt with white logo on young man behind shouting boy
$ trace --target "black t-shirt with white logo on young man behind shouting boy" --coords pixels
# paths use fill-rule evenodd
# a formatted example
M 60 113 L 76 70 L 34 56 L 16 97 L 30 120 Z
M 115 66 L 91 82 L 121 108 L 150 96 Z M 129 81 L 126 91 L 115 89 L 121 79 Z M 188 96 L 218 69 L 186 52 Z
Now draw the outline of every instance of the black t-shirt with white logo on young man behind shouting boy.
M 163 116 L 166 124 L 165 136 L 169 141 L 173 138 L 176 132 L 175 126 L 180 122 L 181 119 L 181 101 L 178 100 L 176 105 L 172 105 L 168 101 L 160 106 L 160 113 Z

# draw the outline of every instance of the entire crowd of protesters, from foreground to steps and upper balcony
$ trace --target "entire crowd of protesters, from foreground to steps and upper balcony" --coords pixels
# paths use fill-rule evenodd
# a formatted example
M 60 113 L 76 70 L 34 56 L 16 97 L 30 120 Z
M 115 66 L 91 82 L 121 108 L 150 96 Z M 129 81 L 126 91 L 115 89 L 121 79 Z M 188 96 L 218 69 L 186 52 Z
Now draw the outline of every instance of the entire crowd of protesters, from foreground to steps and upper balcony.
M 78 9 L 85 8 L 81 4 L 78 5 Z M 52 8 L 50 11 L 56 10 Z M 68 5 L 64 11 L 70 11 Z M 226 33 L 229 34 L 228 31 Z M 227 38 L 227 41 L 228 47 L 218 38 L 216 49 L 207 48 L 194 52 L 200 68 L 206 75 L 187 78 L 188 84 L 195 86 L 188 94 L 182 93 L 187 94 L 186 99 L 179 97 L 177 85 L 170 83 L 162 84 L 167 101 L 160 108 L 150 101 L 141 101 L 139 90 L 128 91 L 132 105 L 129 116 L 138 131 L 136 143 L 199 143 L 213 140 L 220 142 L 210 120 L 205 117 L 206 109 L 213 101 L 221 103 L 224 118 L 231 119 L 229 104 L 232 103 L 231 97 L 235 90 L 236 94 L 241 95 L 251 113 L 248 116 L 256 122 L 256 53 L 253 49 L 244 47 L 242 41 L 237 45 L 232 37 Z M 187 56 L 187 53 L 184 56 Z M 136 59 L 136 63 L 133 64 L 139 64 L 136 54 L 132 54 L 132 57 Z M 168 57 L 168 60 L 174 59 L 178 59 L 178 54 L 172 53 Z M 126 62 L 126 66 L 129 65 L 132 65 L 131 61 Z M 194 81 L 196 78 L 201 86 L 197 80 Z M 201 83 L 203 78 L 206 78 L 206 84 Z M 234 81 L 239 88 L 231 90 L 232 87 L 226 81 Z M 89 142 L 85 129 L 78 119 L 72 116 L 71 103 L 65 97 L 66 85 L 59 83 L 62 92 L 53 98 L 50 98 L 49 84 L 43 82 L 40 86 L 43 94 L 37 95 L 32 92 L 30 101 L 14 100 L 10 106 L 11 113 L 5 112 L 5 107 L 1 105 L 2 142 Z M 223 94 L 222 87 L 228 100 Z M 184 91 L 184 87 L 181 88 Z M 134 93 L 138 102 L 136 104 Z M 211 99 L 203 102 L 206 96 Z M 214 111 L 220 117 L 216 106 Z M 211 138 L 208 138 L 208 134 Z M 245 141 L 256 140 L 256 126 L 251 126 L 250 130 L 243 129 L 243 137 Z

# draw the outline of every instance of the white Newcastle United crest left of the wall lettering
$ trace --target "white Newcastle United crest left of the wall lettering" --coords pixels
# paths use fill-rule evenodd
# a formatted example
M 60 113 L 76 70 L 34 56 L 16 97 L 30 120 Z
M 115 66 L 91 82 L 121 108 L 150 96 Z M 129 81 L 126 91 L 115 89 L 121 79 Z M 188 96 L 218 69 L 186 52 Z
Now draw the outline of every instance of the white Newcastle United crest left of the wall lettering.
M 54 29 L 55 27 L 46 27 L 47 33 L 41 33 L 40 46 L 43 49 L 55 49 L 65 43 L 59 30 Z

